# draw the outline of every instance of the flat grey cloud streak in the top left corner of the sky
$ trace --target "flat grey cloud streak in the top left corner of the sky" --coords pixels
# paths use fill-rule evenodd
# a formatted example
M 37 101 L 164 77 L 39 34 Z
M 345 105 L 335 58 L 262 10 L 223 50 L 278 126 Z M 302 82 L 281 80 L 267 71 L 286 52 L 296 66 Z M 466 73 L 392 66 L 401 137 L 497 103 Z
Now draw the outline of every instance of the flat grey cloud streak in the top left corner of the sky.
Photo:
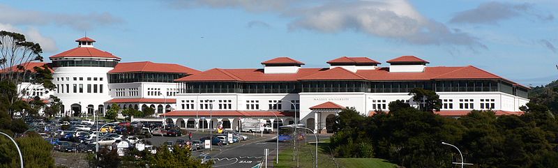
M 85 31 L 93 29 L 94 26 L 106 26 L 123 22 L 119 17 L 109 13 L 89 14 L 63 14 L 48 13 L 35 10 L 21 10 L 10 6 L 1 5 L 0 23 L 13 25 L 45 25 L 56 24 L 59 26 L 70 26 L 73 29 Z

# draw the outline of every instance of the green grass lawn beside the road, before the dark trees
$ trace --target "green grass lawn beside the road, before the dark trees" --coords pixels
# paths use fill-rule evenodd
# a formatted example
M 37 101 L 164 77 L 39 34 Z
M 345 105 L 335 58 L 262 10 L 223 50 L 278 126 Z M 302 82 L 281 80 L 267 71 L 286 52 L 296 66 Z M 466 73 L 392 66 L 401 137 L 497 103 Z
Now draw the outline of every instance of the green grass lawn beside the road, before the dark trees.
M 300 144 L 299 148 L 299 167 L 315 167 L 315 144 Z M 292 147 L 282 149 L 279 153 L 279 164 L 275 167 L 290 168 L 296 167 L 296 158 L 293 161 Z M 393 168 L 397 165 L 378 158 L 333 158 L 329 155 L 329 141 L 318 144 L 318 167 L 338 168 L 338 167 L 378 167 Z

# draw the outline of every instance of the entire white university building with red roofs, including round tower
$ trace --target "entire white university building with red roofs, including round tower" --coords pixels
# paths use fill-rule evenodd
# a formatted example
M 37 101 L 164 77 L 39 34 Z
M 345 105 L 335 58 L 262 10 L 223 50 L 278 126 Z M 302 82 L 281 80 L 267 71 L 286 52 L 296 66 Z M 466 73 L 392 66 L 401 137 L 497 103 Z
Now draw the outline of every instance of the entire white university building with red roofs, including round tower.
M 244 119 L 286 125 L 296 116 L 307 128 L 324 133 L 331 132 L 334 116 L 346 107 L 373 115 L 389 111 L 395 100 L 420 105 L 409 96 L 414 88 L 436 91 L 443 103 L 436 113 L 448 117 L 473 109 L 522 114 L 519 107 L 529 102 L 527 86 L 474 66 L 431 67 L 416 56 L 391 59 L 384 67 L 368 57 L 342 56 L 327 61 L 325 68 L 303 68 L 300 61 L 278 57 L 262 62 L 262 68 L 200 72 L 172 63 L 119 63 L 118 56 L 93 47 L 91 38 L 76 42 L 76 48 L 50 56 L 47 64 L 57 88 L 48 94 L 61 98 L 62 115 L 104 114 L 116 103 L 121 109 L 152 107 L 155 116 L 181 128 L 220 123 L 238 130 Z

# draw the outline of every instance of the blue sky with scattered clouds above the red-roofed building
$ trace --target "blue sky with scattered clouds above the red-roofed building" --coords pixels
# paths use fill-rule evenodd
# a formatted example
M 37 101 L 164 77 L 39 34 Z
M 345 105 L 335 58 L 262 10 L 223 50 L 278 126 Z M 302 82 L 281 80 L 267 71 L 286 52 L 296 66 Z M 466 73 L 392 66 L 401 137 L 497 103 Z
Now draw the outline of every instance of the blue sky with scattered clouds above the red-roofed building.
M 414 55 L 540 86 L 558 79 L 555 11 L 555 0 L 0 0 L 0 30 L 23 33 L 45 58 L 86 35 L 122 62 L 209 70 L 289 56 L 317 68 Z

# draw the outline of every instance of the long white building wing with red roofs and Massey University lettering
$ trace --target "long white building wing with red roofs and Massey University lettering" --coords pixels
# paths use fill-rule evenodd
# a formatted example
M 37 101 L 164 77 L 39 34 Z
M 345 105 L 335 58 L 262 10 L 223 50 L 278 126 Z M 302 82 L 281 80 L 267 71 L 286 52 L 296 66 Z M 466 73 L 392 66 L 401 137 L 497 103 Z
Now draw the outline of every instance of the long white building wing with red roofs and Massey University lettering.
M 262 119 L 278 125 L 299 121 L 324 133 L 331 132 L 334 116 L 345 107 L 373 115 L 389 111 L 395 100 L 417 106 L 409 96 L 414 88 L 436 91 L 443 103 L 436 113 L 442 116 L 473 109 L 522 114 L 519 107 L 529 102 L 529 88 L 474 66 L 428 67 L 416 56 L 387 62 L 391 65 L 382 68 L 366 57 L 343 56 L 328 61 L 329 68 L 301 68 L 304 63 L 280 57 L 262 62 L 262 69 L 206 70 L 176 80 L 176 110 L 167 116 L 190 128 L 231 119 L 225 129 L 238 130 L 242 119 Z M 218 116 L 208 119 L 209 112 Z

